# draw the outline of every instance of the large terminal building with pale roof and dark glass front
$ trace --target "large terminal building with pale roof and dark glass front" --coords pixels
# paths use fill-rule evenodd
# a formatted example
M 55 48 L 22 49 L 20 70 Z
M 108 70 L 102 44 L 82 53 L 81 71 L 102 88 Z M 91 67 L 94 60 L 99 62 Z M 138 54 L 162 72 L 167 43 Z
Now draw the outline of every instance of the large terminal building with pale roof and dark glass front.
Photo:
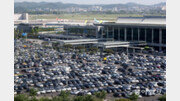
M 97 38 L 114 41 L 145 41 L 155 50 L 166 50 L 166 17 L 119 17 L 116 22 L 94 23 Z

